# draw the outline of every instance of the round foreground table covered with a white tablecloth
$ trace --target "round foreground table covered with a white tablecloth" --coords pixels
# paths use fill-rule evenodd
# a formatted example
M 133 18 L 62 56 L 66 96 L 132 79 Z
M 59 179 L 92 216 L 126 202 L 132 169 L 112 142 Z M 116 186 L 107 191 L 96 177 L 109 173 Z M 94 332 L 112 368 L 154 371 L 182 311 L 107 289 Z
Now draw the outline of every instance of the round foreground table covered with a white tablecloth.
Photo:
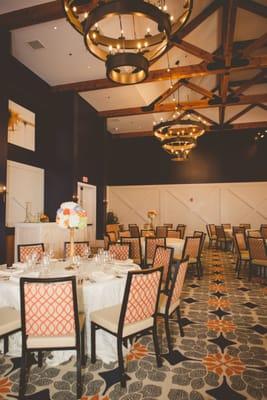
M 68 269 L 69 263 L 66 261 L 52 262 L 45 271 L 41 266 L 33 272 L 16 268 L 0 268 L 0 304 L 2 307 L 11 306 L 18 311 L 20 310 L 19 280 L 22 276 L 62 277 L 75 275 L 78 282 L 79 310 L 83 311 L 86 317 L 86 349 L 87 354 L 90 354 L 90 313 L 122 302 L 127 272 L 140 269 L 137 264 L 131 261 L 118 263 L 114 261 L 112 264 L 101 264 L 96 263 L 94 260 L 86 260 L 82 261 L 80 266 L 73 270 Z M 103 273 L 99 274 L 99 271 Z M 9 348 L 10 354 L 16 356 L 21 354 L 20 332 L 10 337 Z M 50 365 L 57 365 L 67 361 L 72 354 L 74 352 L 71 350 L 56 351 L 52 353 L 52 357 L 47 362 Z M 96 332 L 96 354 L 105 363 L 117 360 L 116 338 L 102 329 Z

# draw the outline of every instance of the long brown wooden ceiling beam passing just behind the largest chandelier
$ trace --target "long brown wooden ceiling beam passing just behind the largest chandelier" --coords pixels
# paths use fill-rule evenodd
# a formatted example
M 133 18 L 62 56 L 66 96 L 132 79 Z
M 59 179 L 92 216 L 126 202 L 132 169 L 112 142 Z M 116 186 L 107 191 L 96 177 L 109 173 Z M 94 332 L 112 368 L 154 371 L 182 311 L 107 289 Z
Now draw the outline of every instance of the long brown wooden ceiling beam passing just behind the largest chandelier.
M 267 67 L 267 55 L 258 56 L 248 59 L 247 65 L 242 65 L 239 67 L 220 67 L 210 68 L 208 64 L 194 64 L 187 65 L 185 67 L 176 67 L 171 68 L 171 76 L 172 79 L 184 79 L 184 78 L 193 78 L 197 76 L 207 76 L 207 75 L 216 75 L 223 74 L 225 72 L 236 72 L 236 71 L 244 71 L 249 69 L 258 69 Z M 170 79 L 170 72 L 165 69 L 159 69 L 150 71 L 148 78 L 143 82 L 157 82 L 162 80 Z M 87 92 L 90 90 L 101 90 L 101 89 L 109 89 L 118 87 L 114 82 L 111 82 L 108 79 L 96 79 L 91 81 L 82 81 L 75 83 L 67 83 L 63 85 L 57 85 L 52 87 L 52 91 L 54 92 L 65 92 L 65 91 L 77 91 L 77 92 Z

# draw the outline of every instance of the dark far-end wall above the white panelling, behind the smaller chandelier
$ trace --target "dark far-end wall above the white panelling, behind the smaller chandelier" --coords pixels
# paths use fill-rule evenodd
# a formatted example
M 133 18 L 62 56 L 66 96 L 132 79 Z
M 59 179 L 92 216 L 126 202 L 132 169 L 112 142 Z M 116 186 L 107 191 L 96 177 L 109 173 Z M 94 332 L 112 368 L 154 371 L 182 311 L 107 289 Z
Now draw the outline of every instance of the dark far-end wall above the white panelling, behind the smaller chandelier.
M 202 136 L 186 162 L 173 162 L 153 137 L 113 139 L 110 185 L 267 180 L 267 138 L 255 132 Z

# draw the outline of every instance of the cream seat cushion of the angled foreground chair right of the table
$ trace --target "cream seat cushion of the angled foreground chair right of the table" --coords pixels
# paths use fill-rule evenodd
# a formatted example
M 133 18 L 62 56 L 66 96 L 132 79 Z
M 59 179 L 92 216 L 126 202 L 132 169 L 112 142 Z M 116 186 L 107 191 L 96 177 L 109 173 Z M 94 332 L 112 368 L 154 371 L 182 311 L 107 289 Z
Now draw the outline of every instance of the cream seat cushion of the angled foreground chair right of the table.
M 121 304 L 116 306 L 103 308 L 102 310 L 93 311 L 90 314 L 92 322 L 101 325 L 110 332 L 117 333 L 119 326 L 119 318 L 121 312 Z M 136 332 L 153 326 L 153 318 L 148 318 L 133 324 L 125 324 L 123 328 L 123 337 L 133 335 Z

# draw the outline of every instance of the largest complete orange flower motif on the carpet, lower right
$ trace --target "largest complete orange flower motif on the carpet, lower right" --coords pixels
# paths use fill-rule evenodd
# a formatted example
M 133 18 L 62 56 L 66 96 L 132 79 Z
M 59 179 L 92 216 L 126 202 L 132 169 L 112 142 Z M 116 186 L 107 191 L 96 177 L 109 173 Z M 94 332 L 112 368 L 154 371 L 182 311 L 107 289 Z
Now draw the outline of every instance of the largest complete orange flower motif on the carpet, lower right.
M 232 357 L 228 354 L 208 354 L 203 359 L 203 364 L 208 371 L 214 371 L 218 375 L 225 374 L 227 376 L 240 375 L 245 370 L 245 365 L 238 357 Z

